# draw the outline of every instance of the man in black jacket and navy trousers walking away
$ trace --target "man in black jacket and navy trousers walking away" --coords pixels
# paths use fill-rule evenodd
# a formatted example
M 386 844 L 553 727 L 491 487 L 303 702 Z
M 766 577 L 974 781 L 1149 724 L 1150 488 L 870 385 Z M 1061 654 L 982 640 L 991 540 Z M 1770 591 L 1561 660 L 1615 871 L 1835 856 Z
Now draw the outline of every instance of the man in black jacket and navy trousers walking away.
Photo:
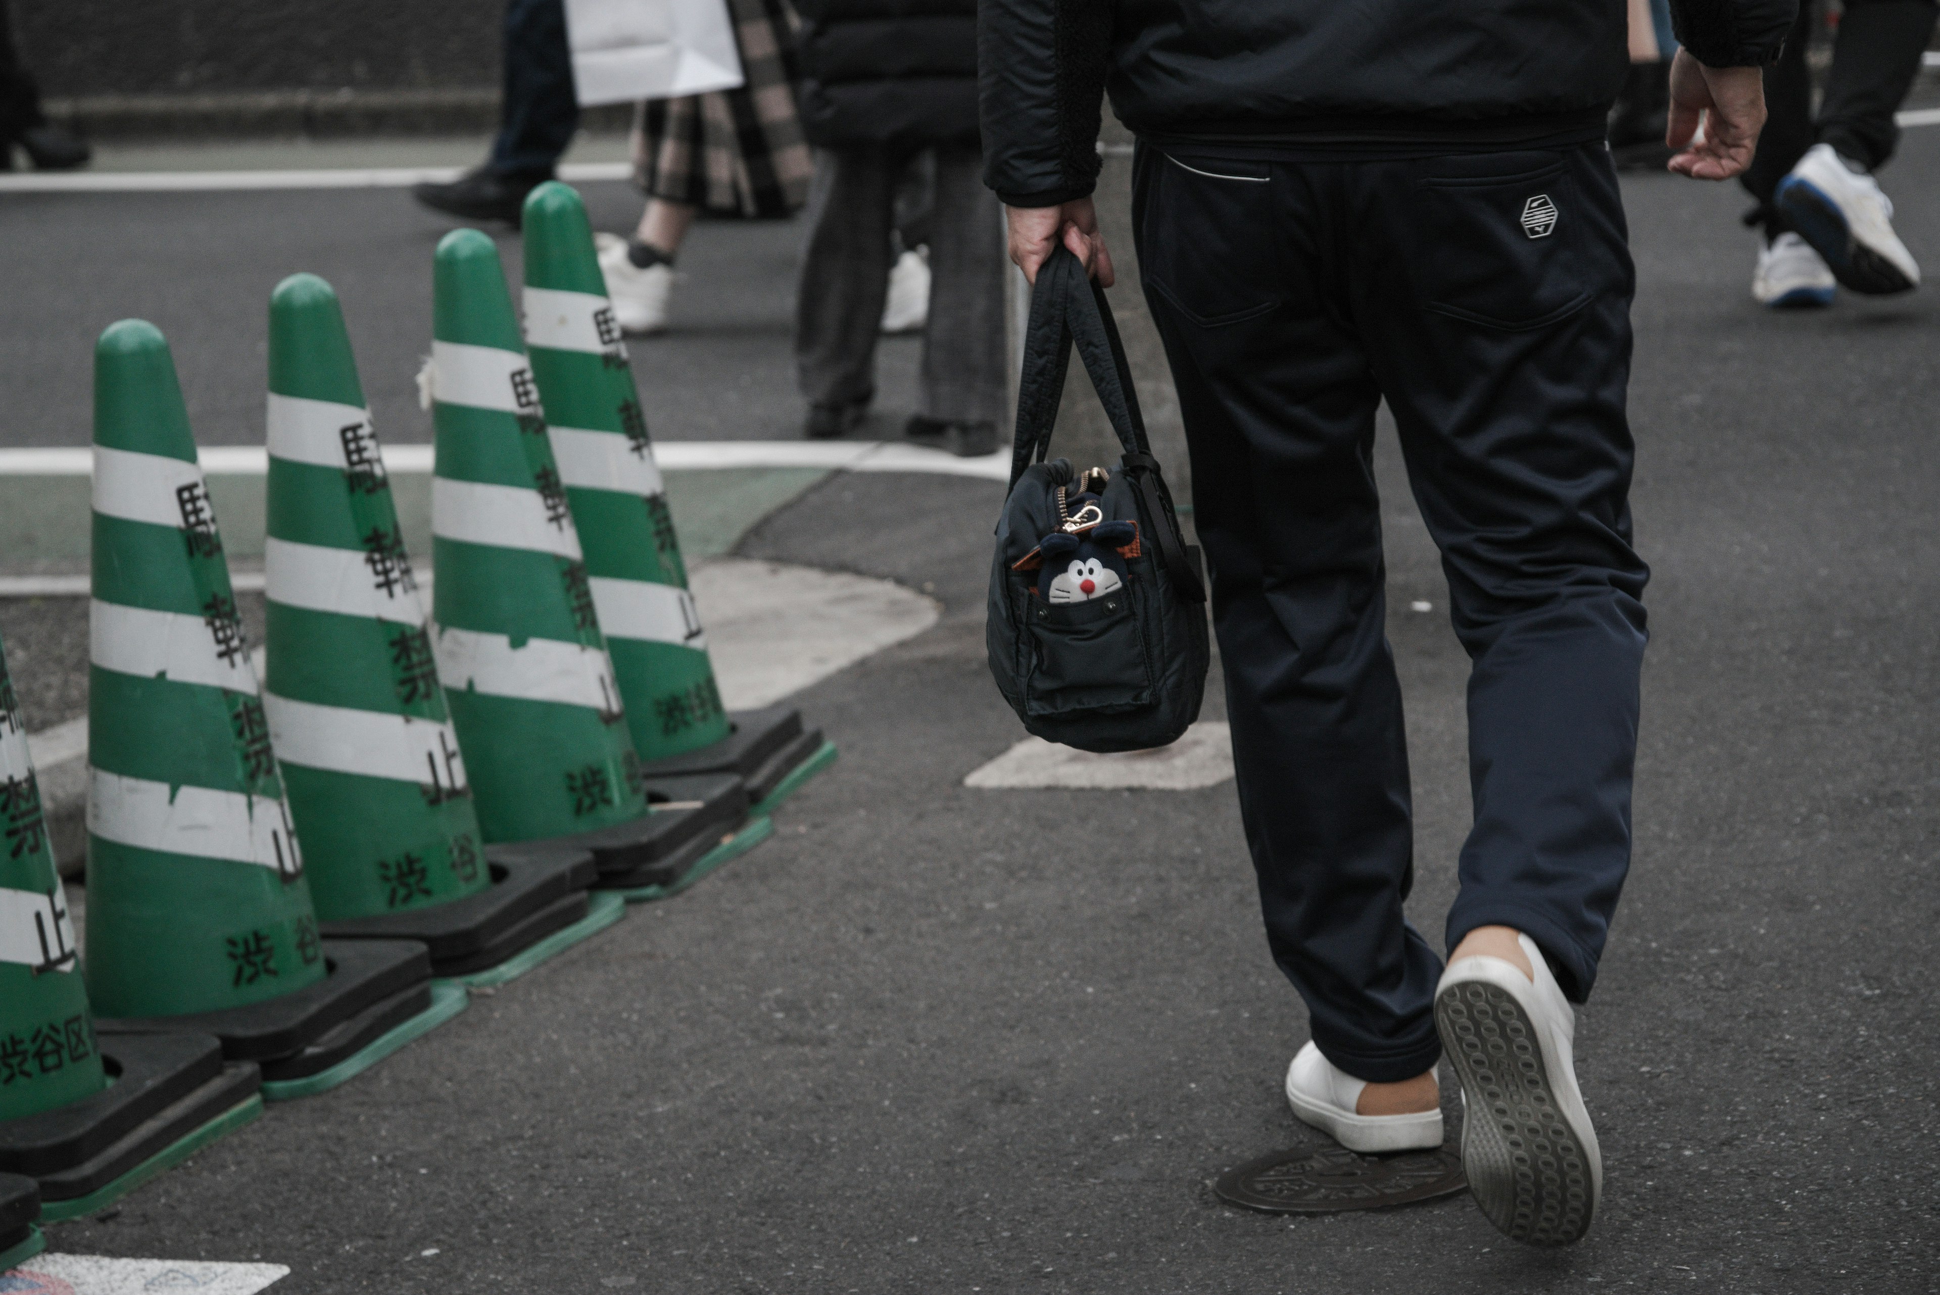
M 1744 171 L 1794 0 L 1672 0 L 1682 175 Z M 1092 210 L 1100 93 L 1139 136 L 1133 239 L 1178 382 L 1267 944 L 1313 1041 L 1302 1120 L 1441 1144 L 1504 1233 L 1602 1190 L 1569 1002 L 1630 866 L 1647 567 L 1632 548 L 1630 297 L 1604 116 L 1610 0 L 984 0 L 986 181 L 1028 276 Z M 1474 829 L 1443 969 L 1403 918 L 1412 825 L 1383 633 L 1385 400 L 1469 650 Z

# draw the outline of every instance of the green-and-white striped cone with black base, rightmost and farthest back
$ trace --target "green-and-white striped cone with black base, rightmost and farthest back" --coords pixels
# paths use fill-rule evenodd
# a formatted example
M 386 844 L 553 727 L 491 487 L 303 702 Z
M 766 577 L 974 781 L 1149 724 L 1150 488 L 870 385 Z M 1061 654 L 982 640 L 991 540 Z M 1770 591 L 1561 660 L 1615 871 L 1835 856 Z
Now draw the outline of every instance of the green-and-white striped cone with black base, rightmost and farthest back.
M 792 707 L 728 714 L 605 297 L 586 206 L 551 181 L 526 198 L 526 344 L 572 501 L 632 744 L 648 777 L 733 773 L 762 810 L 834 759 Z

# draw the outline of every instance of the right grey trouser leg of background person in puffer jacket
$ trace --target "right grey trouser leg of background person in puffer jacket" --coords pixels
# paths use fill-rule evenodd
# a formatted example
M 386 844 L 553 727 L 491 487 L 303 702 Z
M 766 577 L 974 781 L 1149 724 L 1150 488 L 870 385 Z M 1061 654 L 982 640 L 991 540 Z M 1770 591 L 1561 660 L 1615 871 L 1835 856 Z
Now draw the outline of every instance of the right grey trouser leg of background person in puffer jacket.
M 1003 423 L 1003 208 L 984 186 L 974 144 L 937 146 L 929 237 L 929 330 L 916 441 L 989 454 Z

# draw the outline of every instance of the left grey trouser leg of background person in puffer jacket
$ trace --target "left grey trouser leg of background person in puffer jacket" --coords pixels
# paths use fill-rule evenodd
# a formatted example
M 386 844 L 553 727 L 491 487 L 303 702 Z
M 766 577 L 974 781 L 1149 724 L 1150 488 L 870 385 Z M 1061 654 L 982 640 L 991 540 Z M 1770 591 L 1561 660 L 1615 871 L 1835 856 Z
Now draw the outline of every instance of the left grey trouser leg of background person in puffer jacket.
M 795 293 L 795 377 L 811 437 L 856 429 L 875 400 L 896 171 L 881 148 L 815 149 Z

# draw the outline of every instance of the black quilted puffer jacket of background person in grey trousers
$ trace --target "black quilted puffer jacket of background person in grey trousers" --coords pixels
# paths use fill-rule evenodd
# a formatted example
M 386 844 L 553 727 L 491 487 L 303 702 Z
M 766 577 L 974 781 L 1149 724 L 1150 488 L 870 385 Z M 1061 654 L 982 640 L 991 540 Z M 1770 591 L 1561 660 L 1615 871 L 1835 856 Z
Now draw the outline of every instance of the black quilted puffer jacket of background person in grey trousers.
M 797 0 L 809 144 L 976 140 L 976 0 Z

